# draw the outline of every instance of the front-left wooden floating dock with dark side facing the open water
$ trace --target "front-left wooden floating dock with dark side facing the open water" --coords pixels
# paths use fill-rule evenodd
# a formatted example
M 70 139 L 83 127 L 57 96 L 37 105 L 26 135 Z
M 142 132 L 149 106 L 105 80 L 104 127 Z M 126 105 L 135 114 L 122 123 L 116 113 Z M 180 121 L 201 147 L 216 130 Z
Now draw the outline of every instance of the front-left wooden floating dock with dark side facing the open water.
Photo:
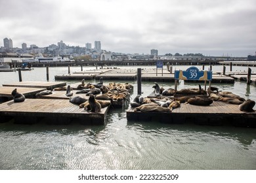
M 22 103 L 7 101 L 0 105 L 0 122 L 12 118 L 18 124 L 34 124 L 41 120 L 47 124 L 71 124 L 79 122 L 86 125 L 103 125 L 109 107 L 99 113 L 87 112 L 66 99 L 26 99 Z

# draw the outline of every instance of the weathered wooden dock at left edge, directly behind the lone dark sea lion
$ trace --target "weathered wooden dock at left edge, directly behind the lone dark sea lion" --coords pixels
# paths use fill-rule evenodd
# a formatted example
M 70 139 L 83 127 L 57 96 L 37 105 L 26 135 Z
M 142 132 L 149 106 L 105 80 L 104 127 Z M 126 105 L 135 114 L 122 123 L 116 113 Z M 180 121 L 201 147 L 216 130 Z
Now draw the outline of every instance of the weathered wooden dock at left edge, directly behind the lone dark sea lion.
M 33 97 L 36 93 L 39 93 L 46 88 L 24 88 L 24 87 L 0 87 L 0 97 L 12 97 L 12 91 L 17 89 L 18 93 L 22 93 L 25 97 Z

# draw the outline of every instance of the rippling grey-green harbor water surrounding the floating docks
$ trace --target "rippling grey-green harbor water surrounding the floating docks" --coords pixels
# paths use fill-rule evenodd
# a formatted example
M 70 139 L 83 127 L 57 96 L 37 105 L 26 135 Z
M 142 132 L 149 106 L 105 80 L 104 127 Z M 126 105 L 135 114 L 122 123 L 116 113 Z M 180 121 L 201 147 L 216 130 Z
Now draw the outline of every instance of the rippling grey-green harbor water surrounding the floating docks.
M 188 67 L 175 65 L 173 70 Z M 197 67 L 202 69 L 202 66 Z M 232 69 L 247 71 L 247 67 L 233 66 Z M 251 69 L 255 72 L 255 68 Z M 80 71 L 81 67 L 71 67 L 70 70 Z M 222 71 L 222 67 L 213 66 L 213 71 Z M 54 75 L 66 74 L 67 67 L 49 68 L 50 81 L 54 81 Z M 18 82 L 18 72 L 1 72 L 0 78 L 0 85 Z M 46 68 L 22 71 L 22 80 L 46 81 Z M 104 83 L 108 82 L 129 82 L 134 86 L 131 98 L 137 95 L 136 81 L 104 80 Z M 174 82 L 158 84 L 166 89 L 174 88 Z M 142 82 L 142 96 L 152 93 L 153 85 L 154 82 Z M 181 82 L 178 90 L 197 85 Z M 212 86 L 256 101 L 255 86 L 247 86 L 246 82 Z M 129 105 L 110 108 L 106 125 L 0 124 L 0 169 L 256 169 L 254 128 L 127 122 L 126 110 L 129 108 Z

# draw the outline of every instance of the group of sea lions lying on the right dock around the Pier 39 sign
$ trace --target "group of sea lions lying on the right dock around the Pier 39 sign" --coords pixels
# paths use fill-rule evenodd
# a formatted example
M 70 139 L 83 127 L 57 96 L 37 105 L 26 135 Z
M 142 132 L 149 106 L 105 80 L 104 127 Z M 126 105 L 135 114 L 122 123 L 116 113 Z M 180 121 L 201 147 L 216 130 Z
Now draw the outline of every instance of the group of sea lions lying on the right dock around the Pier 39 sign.
M 154 83 L 155 85 L 152 88 L 154 88 L 153 95 L 155 98 L 144 98 L 141 95 L 137 95 L 133 101 L 130 102 L 131 108 L 135 108 L 135 111 L 142 112 L 171 112 L 173 108 L 180 107 L 181 103 L 198 106 L 209 106 L 213 103 L 213 101 L 223 101 L 225 103 L 239 105 L 239 109 L 243 112 L 255 111 L 253 110 L 255 101 L 250 99 L 245 100 L 244 98 L 232 92 L 219 92 L 219 89 L 216 87 L 210 87 L 207 89 L 207 91 L 210 93 L 209 97 L 207 97 L 207 92 L 201 88 L 200 84 L 199 88 L 184 88 L 175 92 L 175 90 L 172 88 L 165 90 L 164 88 L 160 87 L 157 82 Z M 175 94 L 183 96 L 173 97 L 172 99 L 167 97 Z

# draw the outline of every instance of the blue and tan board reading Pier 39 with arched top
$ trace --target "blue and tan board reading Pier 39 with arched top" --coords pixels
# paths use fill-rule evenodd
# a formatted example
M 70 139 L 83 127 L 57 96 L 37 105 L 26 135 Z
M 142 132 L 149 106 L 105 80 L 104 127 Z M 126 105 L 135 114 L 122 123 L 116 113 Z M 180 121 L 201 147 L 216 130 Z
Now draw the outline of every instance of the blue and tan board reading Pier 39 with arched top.
M 197 67 L 189 67 L 186 71 L 175 71 L 175 80 L 211 80 L 211 71 L 199 71 Z

